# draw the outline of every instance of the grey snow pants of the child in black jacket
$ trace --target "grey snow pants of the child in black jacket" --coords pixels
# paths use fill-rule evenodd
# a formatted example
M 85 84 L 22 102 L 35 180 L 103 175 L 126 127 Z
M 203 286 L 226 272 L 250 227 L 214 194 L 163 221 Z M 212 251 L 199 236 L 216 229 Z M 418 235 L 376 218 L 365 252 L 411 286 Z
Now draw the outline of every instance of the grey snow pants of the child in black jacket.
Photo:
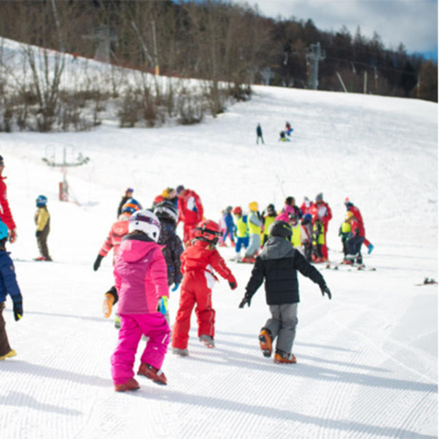
M 268 329 L 276 340 L 276 349 L 287 354 L 292 353 L 294 337 L 296 337 L 297 303 L 285 303 L 285 305 L 269 305 L 272 318 L 265 323 L 264 329 Z

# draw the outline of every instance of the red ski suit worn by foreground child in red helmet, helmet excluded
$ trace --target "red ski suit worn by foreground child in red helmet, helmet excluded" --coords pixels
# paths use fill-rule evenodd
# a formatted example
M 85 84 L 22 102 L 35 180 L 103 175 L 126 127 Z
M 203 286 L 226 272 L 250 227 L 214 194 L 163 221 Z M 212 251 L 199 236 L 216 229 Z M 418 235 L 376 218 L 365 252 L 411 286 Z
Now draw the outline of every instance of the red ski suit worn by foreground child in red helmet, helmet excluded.
M 229 282 L 236 283 L 235 277 L 226 266 L 218 250 L 200 239 L 192 241 L 181 255 L 180 305 L 172 330 L 172 347 L 185 349 L 189 341 L 191 329 L 191 313 L 196 305 L 195 313 L 198 321 L 198 337 L 215 335 L 215 309 L 212 308 L 212 287 L 217 281 L 213 270 Z

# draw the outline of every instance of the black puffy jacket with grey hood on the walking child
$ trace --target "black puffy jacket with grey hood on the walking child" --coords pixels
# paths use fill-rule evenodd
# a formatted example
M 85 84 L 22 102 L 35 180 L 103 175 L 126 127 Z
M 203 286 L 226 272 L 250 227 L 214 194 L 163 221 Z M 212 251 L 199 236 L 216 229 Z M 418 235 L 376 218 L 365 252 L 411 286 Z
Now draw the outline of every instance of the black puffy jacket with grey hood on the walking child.
M 300 302 L 297 270 L 314 283 L 324 285 L 322 274 L 289 241 L 282 237 L 270 237 L 256 258 L 246 287 L 246 297 L 252 298 L 265 278 L 268 305 Z

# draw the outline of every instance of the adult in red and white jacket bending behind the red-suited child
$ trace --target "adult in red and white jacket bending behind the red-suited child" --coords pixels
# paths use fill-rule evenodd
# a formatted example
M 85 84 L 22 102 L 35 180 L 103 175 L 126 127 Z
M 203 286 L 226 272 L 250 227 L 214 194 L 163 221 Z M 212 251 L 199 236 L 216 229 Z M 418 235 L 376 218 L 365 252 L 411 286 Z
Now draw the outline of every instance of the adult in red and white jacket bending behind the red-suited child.
M 177 187 L 178 193 L 178 220 L 183 225 L 183 242 L 189 241 L 193 230 L 203 219 L 203 205 L 198 193 L 191 189 L 185 189 L 180 185 Z

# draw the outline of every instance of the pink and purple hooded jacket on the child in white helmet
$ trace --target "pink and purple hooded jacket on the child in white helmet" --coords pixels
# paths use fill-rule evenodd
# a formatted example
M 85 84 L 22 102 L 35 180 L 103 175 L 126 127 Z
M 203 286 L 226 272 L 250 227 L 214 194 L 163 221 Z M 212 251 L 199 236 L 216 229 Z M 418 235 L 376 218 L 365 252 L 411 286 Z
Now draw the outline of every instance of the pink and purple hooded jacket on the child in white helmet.
M 163 247 L 146 235 L 126 235 L 115 263 L 119 314 L 155 313 L 158 298 L 169 297 Z

